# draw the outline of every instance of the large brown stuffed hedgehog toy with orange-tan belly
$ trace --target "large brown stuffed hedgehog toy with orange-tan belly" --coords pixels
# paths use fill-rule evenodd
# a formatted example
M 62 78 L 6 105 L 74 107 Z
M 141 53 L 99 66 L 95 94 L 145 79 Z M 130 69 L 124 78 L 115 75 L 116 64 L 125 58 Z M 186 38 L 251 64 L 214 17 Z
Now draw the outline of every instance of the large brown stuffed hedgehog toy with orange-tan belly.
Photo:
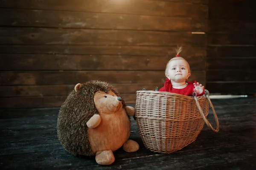
M 113 151 L 120 147 L 126 152 L 139 149 L 136 141 L 128 140 L 131 133 L 128 116 L 134 112 L 106 82 L 76 84 L 58 114 L 58 139 L 74 155 L 96 156 L 98 164 L 112 164 Z

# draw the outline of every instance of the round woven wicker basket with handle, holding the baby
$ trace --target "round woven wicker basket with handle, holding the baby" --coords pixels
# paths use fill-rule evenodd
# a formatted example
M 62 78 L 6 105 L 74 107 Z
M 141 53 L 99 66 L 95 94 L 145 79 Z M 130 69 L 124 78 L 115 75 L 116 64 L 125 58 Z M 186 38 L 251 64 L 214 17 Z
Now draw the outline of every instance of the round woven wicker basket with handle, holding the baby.
M 208 99 L 208 100 L 207 100 Z M 207 121 L 209 104 L 216 130 Z M 209 99 L 170 92 L 137 91 L 135 120 L 145 147 L 152 152 L 172 153 L 195 141 L 204 122 L 218 132 L 218 118 Z

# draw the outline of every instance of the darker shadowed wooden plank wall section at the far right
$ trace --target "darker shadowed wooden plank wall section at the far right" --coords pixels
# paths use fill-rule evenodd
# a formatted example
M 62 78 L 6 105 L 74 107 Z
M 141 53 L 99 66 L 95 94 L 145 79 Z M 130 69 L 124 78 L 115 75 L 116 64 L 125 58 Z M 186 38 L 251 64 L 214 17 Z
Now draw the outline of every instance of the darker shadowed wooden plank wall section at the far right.
M 207 88 L 256 94 L 256 1 L 209 0 Z

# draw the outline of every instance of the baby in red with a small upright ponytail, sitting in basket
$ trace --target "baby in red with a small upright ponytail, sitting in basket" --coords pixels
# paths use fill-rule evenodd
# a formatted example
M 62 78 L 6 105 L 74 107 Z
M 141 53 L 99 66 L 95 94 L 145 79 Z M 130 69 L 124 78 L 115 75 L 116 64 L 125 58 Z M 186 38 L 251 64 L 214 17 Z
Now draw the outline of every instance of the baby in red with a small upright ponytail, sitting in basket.
M 204 95 L 204 86 L 198 82 L 187 82 L 190 76 L 189 63 L 182 57 L 179 57 L 182 47 L 176 50 L 177 55 L 166 64 L 166 82 L 164 86 L 159 89 L 159 92 L 172 92 L 181 95 L 192 96 L 193 92 L 197 96 Z

